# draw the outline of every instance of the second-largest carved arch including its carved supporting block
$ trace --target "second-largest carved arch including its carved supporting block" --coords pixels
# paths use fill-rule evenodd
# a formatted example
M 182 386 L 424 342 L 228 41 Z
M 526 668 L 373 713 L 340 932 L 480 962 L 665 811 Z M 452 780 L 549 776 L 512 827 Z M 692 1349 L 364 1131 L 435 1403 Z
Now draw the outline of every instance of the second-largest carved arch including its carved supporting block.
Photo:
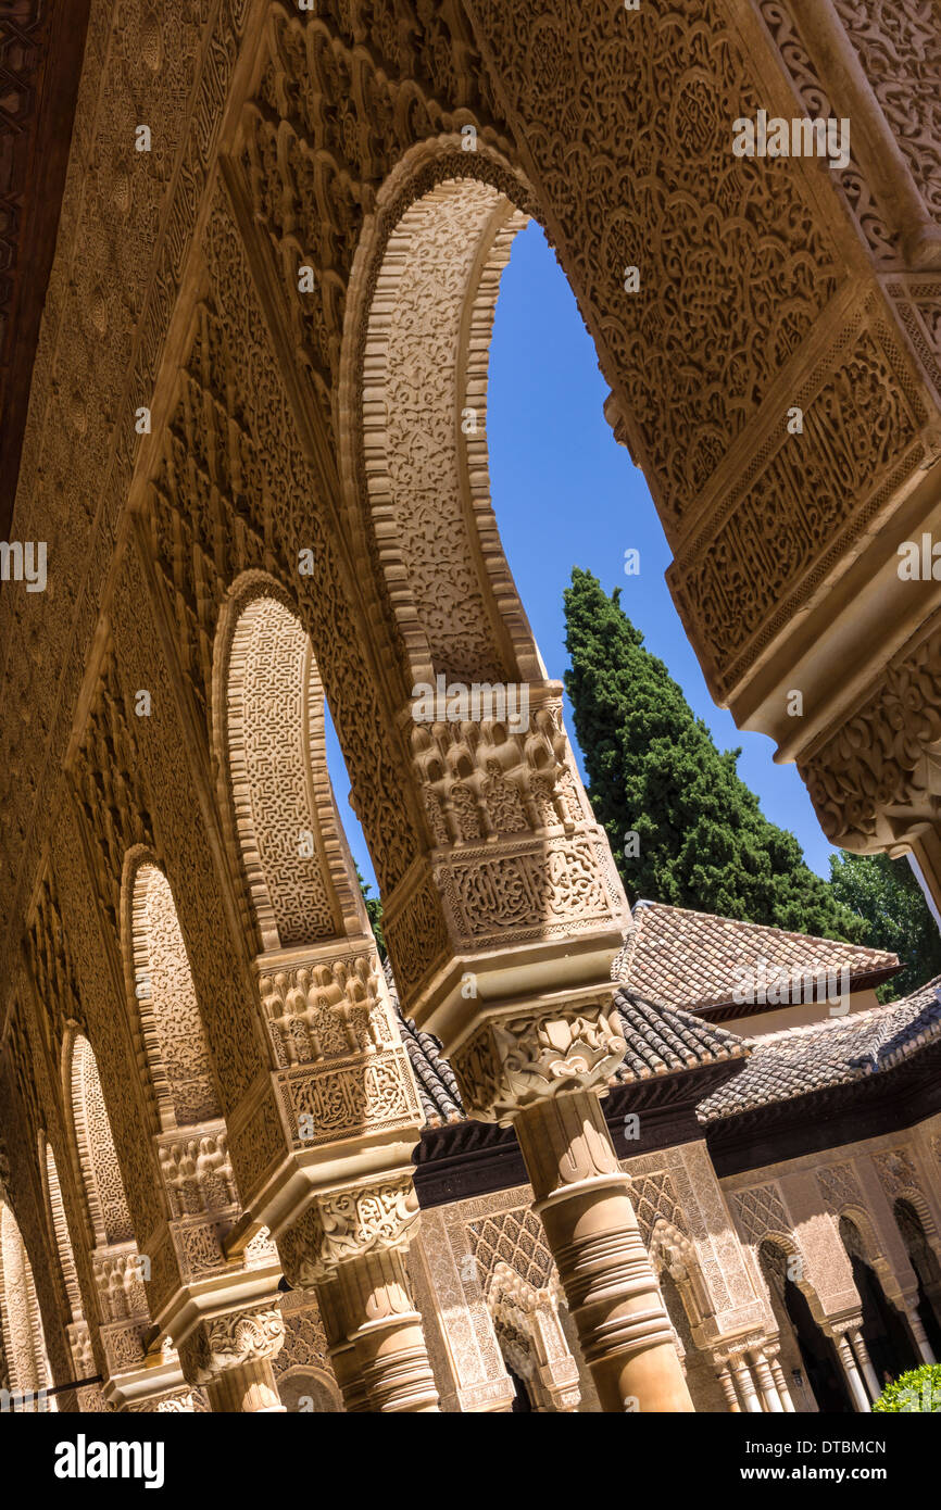
M 292 1151 L 245 1194 L 281 1232 L 325 1179 L 411 1181 L 421 1110 L 334 799 L 311 642 L 264 572 L 233 584 L 219 619 L 213 752 Z

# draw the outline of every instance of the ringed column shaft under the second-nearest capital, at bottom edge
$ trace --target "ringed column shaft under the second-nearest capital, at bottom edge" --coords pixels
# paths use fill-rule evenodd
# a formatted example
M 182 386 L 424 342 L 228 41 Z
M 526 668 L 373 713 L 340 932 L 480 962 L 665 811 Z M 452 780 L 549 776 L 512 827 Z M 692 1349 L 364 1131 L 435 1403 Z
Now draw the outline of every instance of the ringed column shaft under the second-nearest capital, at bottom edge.
M 435 1376 L 424 1345 L 421 1317 L 412 1305 L 400 1252 L 350 1259 L 337 1270 L 343 1306 L 355 1330 L 356 1362 L 369 1410 L 438 1410 Z

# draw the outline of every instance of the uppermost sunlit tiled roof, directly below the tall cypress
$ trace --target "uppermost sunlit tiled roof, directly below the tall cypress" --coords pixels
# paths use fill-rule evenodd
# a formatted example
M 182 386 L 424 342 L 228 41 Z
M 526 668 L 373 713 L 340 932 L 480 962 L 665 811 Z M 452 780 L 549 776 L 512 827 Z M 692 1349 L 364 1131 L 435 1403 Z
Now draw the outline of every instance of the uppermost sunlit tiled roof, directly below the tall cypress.
M 900 968 L 899 957 L 882 950 L 810 933 L 785 933 L 659 901 L 639 901 L 633 923 L 615 962 L 616 978 L 651 1001 L 692 1012 L 730 1004 L 742 969 L 755 971 L 760 959 L 767 962 L 769 971 L 782 966 L 788 971 L 825 969 L 835 975 L 849 969 L 855 989 L 887 980 Z

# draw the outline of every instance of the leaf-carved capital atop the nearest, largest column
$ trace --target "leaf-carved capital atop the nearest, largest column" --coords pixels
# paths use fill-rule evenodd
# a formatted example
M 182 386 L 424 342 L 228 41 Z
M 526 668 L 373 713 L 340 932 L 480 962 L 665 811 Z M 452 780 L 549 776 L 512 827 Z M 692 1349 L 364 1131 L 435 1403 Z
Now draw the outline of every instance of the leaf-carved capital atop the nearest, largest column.
M 627 1043 L 613 1001 L 486 1021 L 452 1055 L 468 1113 L 509 1122 L 547 1096 L 606 1086 Z

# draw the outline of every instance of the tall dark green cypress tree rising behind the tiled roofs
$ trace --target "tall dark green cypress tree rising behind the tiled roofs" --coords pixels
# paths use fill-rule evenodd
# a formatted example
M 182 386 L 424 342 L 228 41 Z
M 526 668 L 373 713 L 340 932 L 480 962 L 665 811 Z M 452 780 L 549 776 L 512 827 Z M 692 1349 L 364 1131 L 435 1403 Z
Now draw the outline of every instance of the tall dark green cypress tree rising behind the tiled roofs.
M 565 687 L 589 797 L 631 901 L 861 942 L 862 917 L 804 862 L 794 835 L 764 817 L 737 773 L 740 752 L 716 749 L 663 661 L 643 648 L 619 590 L 609 598 L 575 568 L 565 612 Z

